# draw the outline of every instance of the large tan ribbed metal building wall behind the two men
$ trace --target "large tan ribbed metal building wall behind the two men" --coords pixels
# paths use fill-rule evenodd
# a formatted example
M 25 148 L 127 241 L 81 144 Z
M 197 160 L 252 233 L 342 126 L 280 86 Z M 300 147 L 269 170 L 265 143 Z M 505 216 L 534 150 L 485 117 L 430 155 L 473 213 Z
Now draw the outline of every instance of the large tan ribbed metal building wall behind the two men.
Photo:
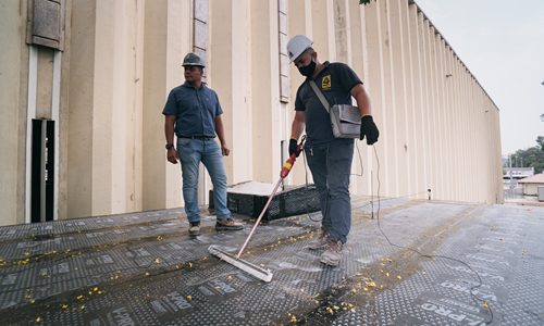
M 228 183 L 275 181 L 302 82 L 280 55 L 284 29 L 348 63 L 371 96 L 379 161 L 357 141 L 353 193 L 380 183 L 380 196 L 503 201 L 498 108 L 411 1 L 66 0 L 62 51 L 26 43 L 29 3 L 0 3 L 0 225 L 30 221 L 32 118 L 57 121 L 55 218 L 183 205 L 161 110 L 196 45 L 225 112 Z M 287 183 L 306 173 L 299 159 Z M 205 173 L 200 186 L 205 203 Z

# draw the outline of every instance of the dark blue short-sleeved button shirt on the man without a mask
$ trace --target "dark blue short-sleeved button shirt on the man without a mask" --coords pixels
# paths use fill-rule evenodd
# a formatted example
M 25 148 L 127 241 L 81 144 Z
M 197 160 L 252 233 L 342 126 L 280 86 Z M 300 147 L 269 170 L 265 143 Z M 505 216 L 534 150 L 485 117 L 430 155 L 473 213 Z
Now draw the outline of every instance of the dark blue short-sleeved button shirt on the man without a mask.
M 180 136 L 215 137 L 215 116 L 223 109 L 215 91 L 203 83 L 195 88 L 190 83 L 175 87 L 170 91 L 164 115 L 175 115 L 175 134 Z

